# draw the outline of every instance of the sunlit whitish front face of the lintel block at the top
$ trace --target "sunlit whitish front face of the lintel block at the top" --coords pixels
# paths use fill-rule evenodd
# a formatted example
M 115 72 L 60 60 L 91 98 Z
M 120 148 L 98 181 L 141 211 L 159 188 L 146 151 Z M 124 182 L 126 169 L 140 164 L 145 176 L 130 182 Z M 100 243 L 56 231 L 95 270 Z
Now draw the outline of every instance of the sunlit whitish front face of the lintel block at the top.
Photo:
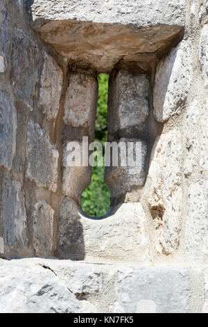
M 184 1 L 34 1 L 33 20 L 76 19 L 80 21 L 135 24 L 152 26 L 157 24 L 184 24 Z M 157 13 L 157 15 L 155 15 Z

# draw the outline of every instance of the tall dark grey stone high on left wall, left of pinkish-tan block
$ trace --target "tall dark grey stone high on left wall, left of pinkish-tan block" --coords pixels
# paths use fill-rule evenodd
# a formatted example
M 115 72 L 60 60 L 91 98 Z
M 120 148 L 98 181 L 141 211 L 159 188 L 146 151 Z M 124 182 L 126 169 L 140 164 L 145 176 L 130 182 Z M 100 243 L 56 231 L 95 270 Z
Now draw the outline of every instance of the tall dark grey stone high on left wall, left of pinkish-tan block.
M 10 79 L 15 95 L 32 111 L 40 54 L 34 40 L 17 27 L 12 33 L 11 63 Z

